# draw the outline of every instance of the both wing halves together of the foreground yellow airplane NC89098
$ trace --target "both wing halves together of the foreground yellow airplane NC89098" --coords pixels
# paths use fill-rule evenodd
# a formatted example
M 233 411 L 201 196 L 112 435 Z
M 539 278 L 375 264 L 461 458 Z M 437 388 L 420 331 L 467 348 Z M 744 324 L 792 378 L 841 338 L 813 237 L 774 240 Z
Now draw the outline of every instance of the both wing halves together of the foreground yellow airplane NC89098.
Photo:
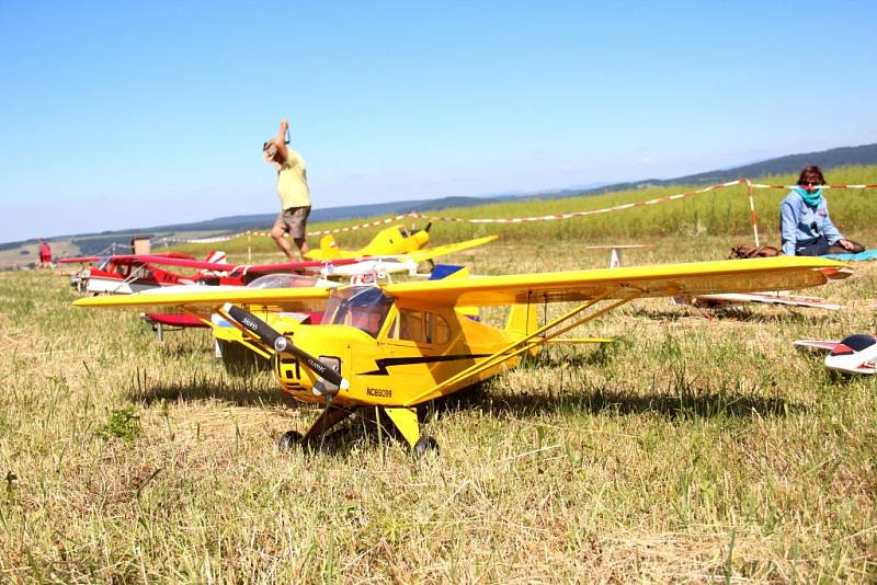
M 806 288 L 845 278 L 852 273 L 833 260 L 806 256 L 726 260 L 630 268 L 567 271 L 485 276 L 384 285 L 390 296 L 436 306 L 497 306 L 522 302 L 581 301 L 606 295 L 624 298 L 697 296 Z M 157 289 L 137 295 L 88 297 L 77 307 L 173 308 L 210 311 L 226 302 L 261 305 L 278 310 L 310 310 L 329 298 L 326 288 L 193 287 L 182 291 Z

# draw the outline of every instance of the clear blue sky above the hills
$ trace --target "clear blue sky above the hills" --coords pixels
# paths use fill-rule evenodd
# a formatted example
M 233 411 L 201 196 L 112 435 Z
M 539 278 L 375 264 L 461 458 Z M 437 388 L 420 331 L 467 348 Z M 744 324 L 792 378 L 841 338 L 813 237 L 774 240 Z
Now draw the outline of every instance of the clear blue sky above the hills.
M 877 141 L 877 2 L 0 0 L 0 241 Z

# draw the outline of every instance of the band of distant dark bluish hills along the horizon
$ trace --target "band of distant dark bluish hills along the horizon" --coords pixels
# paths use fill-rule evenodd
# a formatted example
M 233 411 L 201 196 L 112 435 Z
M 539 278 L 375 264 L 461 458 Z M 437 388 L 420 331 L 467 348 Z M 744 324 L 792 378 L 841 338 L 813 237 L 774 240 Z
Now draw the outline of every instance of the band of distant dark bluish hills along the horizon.
M 367 205 L 350 205 L 315 209 L 310 219 L 312 221 L 333 221 L 341 219 L 357 219 L 365 217 L 380 217 L 402 215 L 409 211 L 428 211 L 447 209 L 449 207 L 469 207 L 485 203 L 515 199 L 548 199 L 557 197 L 579 197 L 582 195 L 599 195 L 617 191 L 631 191 L 643 186 L 654 185 L 701 185 L 725 183 L 740 176 L 763 176 L 768 174 L 794 174 L 808 164 L 818 164 L 822 169 L 846 167 L 852 164 L 877 164 L 877 144 L 856 147 L 842 147 L 823 150 L 820 152 L 806 152 L 789 154 L 776 159 L 734 167 L 731 169 L 717 169 L 704 173 L 690 174 L 673 179 L 643 179 L 626 183 L 594 184 L 599 186 L 578 186 L 563 190 L 542 191 L 534 193 L 503 193 L 481 197 L 442 197 L 436 199 L 415 199 L 392 203 L 377 203 Z M 93 234 L 65 236 L 47 238 L 49 241 L 70 242 L 82 254 L 94 254 L 105 250 L 112 243 L 126 243 L 133 236 L 153 234 L 156 237 L 172 237 L 182 232 L 198 233 L 200 236 L 221 236 L 237 233 L 250 229 L 267 229 L 274 222 L 276 214 L 255 214 L 246 216 L 230 216 L 196 221 L 192 223 L 173 223 L 152 228 L 130 229 L 123 231 L 104 231 Z M 0 252 L 14 254 L 18 249 L 33 245 L 37 240 L 31 239 L 19 242 L 0 243 Z

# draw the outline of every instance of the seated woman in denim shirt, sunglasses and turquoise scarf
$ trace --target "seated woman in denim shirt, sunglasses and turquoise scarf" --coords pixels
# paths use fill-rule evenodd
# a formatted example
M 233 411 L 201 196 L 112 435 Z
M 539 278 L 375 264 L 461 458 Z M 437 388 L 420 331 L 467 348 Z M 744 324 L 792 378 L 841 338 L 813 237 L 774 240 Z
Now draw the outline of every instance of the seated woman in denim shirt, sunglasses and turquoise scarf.
M 788 256 L 856 254 L 865 248 L 845 239 L 829 217 L 820 185 L 824 184 L 819 167 L 807 167 L 798 176 L 798 188 L 779 204 L 779 234 L 783 253 Z

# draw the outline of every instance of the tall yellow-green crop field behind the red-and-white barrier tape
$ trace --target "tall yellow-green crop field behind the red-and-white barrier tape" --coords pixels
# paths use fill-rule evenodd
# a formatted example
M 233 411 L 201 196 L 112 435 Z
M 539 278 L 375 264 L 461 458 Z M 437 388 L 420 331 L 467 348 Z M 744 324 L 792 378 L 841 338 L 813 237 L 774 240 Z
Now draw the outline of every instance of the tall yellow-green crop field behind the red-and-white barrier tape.
M 778 175 L 761 176 L 754 179 L 754 182 L 787 185 L 796 180 L 797 176 Z M 877 165 L 833 169 L 827 173 L 825 180 L 833 184 L 874 184 L 877 181 Z M 603 209 L 687 193 L 698 188 L 703 188 L 703 186 L 671 185 L 588 197 L 494 203 L 442 209 L 430 215 L 463 219 L 540 217 L 548 214 Z M 830 202 L 831 215 L 842 227 L 844 234 L 854 240 L 865 239 L 865 236 L 874 229 L 873 206 L 877 190 L 827 191 L 825 194 Z M 779 244 L 778 209 L 779 202 L 785 195 L 786 192 L 779 190 L 754 191 L 755 209 L 760 217 L 761 243 Z M 312 231 L 334 229 L 357 222 L 361 221 L 319 222 L 308 225 L 308 229 Z M 422 228 L 426 221 L 412 221 L 409 218 L 402 222 Z M 672 239 L 680 236 L 688 238 L 733 237 L 752 241 L 751 226 L 747 190 L 745 186 L 739 185 L 681 200 L 572 220 L 491 225 L 437 221 L 433 225 L 431 236 L 433 244 L 492 233 L 499 234 L 500 240 L 528 241 L 535 244 L 561 244 L 571 240 L 592 243 L 649 243 L 653 238 Z M 361 246 L 367 243 L 383 227 L 339 233 L 335 236 L 335 240 L 341 248 Z M 319 238 L 310 238 L 309 241 L 311 245 L 316 245 Z M 283 257 L 270 238 L 258 236 L 240 237 L 221 244 L 187 244 L 174 249 L 203 257 L 207 251 L 217 246 L 229 254 L 238 254 L 242 261 L 247 260 L 248 250 L 257 255 L 272 254 L 276 259 Z

